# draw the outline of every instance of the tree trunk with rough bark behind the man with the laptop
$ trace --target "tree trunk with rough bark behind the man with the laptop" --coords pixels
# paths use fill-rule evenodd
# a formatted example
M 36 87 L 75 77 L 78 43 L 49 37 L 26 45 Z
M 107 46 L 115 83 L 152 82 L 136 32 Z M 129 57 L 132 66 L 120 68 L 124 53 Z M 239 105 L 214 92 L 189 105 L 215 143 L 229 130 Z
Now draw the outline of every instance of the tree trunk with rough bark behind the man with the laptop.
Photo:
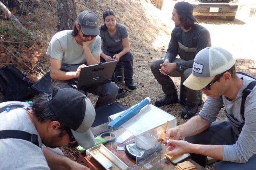
M 76 20 L 74 0 L 56 0 L 57 1 L 57 30 L 72 30 Z

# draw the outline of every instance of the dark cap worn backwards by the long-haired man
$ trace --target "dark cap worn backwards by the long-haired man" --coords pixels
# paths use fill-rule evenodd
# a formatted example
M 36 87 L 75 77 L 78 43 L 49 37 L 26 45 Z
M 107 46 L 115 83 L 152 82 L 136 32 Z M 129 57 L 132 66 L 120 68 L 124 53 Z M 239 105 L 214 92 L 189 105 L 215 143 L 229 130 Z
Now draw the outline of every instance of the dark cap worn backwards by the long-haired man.
M 184 2 L 184 1 L 182 1 L 182 2 L 177 2 L 177 3 L 175 3 L 174 8 L 175 8 L 176 10 L 178 10 L 179 12 L 186 14 L 186 15 L 187 15 L 190 19 L 192 19 L 193 21 L 196 21 L 196 20 L 197 20 L 197 19 L 193 16 L 193 10 L 194 10 L 194 8 L 193 8 L 193 6 L 192 6 L 190 3 Z

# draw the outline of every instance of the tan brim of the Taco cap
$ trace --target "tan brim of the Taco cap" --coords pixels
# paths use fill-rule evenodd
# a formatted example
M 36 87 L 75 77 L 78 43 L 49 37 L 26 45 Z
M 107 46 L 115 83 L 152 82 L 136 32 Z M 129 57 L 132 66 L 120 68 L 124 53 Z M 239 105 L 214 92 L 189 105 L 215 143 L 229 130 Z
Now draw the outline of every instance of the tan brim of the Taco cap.
M 212 77 L 196 77 L 195 75 L 190 74 L 183 85 L 192 90 L 201 90 L 207 86 L 214 79 L 214 77 L 215 75 Z

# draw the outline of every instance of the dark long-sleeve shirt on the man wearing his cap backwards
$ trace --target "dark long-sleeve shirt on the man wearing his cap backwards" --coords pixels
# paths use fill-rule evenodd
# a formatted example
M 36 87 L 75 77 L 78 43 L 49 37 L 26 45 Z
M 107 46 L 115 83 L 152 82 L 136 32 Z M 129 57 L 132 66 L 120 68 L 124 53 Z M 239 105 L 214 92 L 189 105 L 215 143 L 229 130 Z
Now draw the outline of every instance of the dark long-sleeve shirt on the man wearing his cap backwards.
M 200 27 L 196 27 L 195 29 L 191 29 L 188 32 L 181 31 L 180 37 L 178 39 L 177 38 L 177 31 L 179 30 L 178 28 L 179 27 L 175 27 L 172 30 L 171 39 L 170 39 L 170 42 L 169 42 L 167 53 L 165 55 L 165 59 L 169 59 L 170 63 L 175 59 L 175 57 L 178 54 L 178 48 L 179 48 L 178 41 L 182 45 L 184 45 L 186 47 L 189 47 L 189 44 L 191 44 L 191 41 L 193 39 L 194 34 L 198 35 L 196 54 L 200 50 L 211 46 L 211 37 L 210 37 L 210 33 L 207 29 L 205 29 L 205 28 L 201 29 Z M 199 33 L 196 33 L 196 32 L 199 32 Z M 176 63 L 177 70 L 180 71 L 180 70 L 186 70 L 188 68 L 192 68 L 193 63 L 194 63 L 194 59 L 186 61 L 186 62 L 182 62 L 182 63 Z

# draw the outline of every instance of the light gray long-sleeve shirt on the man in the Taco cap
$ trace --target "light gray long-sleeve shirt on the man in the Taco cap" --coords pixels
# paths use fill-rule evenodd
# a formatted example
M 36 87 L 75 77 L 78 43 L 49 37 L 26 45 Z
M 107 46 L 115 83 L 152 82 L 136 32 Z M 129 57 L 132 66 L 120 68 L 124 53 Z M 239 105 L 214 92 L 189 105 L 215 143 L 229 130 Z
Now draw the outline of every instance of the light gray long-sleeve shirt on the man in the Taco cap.
M 243 78 L 243 85 L 236 99 L 230 101 L 226 97 L 223 97 L 222 101 L 220 98 L 213 99 L 208 97 L 199 115 L 209 123 L 212 123 L 216 120 L 220 108 L 224 103 L 228 114 L 232 115 L 239 122 L 245 123 L 236 143 L 233 145 L 224 145 L 223 148 L 224 161 L 245 163 L 250 157 L 256 154 L 256 87 L 246 98 L 244 105 L 244 121 L 240 114 L 242 91 L 250 82 L 254 81 L 254 79 L 241 74 L 238 74 L 238 76 Z

